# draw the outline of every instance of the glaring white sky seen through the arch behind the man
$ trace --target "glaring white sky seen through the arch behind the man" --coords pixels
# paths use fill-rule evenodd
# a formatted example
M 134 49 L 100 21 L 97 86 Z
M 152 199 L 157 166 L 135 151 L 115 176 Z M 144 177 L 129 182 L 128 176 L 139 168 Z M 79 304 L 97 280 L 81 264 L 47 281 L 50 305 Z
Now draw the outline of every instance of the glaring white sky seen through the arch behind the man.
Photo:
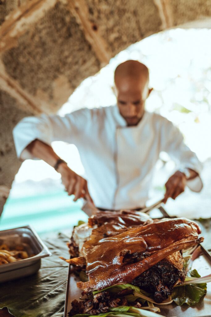
M 128 59 L 139 60 L 148 66 L 150 86 L 154 88 L 146 109 L 176 124 L 186 144 L 205 161 L 211 157 L 210 38 L 210 29 L 172 29 L 149 36 L 120 52 L 98 74 L 85 79 L 58 113 L 63 116 L 82 107 L 115 104 L 112 87 L 116 66 Z M 53 148 L 74 171 L 83 174 L 75 146 L 54 142 Z M 43 161 L 27 160 L 15 181 L 45 178 L 58 179 L 59 174 Z

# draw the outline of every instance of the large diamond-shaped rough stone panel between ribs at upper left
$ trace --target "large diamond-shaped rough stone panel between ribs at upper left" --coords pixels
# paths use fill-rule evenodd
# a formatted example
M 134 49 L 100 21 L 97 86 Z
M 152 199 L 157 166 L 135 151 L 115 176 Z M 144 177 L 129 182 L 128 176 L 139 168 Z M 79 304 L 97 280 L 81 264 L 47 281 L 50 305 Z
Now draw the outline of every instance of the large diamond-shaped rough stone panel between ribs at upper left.
M 76 18 L 60 2 L 18 38 L 17 46 L 3 53 L 2 61 L 6 73 L 46 113 L 57 111 L 81 79 L 100 69 Z

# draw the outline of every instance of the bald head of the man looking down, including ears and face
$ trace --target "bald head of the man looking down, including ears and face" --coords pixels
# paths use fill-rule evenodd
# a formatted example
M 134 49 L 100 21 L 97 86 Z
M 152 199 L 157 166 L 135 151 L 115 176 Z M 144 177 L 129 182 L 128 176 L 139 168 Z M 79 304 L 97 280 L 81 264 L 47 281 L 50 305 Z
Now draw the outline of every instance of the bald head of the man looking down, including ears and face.
M 139 61 L 125 61 L 114 74 L 117 105 L 128 126 L 135 126 L 144 114 L 149 89 L 149 70 Z

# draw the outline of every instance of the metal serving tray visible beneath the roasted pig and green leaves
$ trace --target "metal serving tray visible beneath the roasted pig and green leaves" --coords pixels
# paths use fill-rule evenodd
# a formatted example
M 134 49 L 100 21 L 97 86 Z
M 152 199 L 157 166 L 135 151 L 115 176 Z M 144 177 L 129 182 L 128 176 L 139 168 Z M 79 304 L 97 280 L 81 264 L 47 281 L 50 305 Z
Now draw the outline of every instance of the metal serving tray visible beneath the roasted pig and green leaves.
M 160 210 L 157 210 L 157 217 L 159 212 Z M 196 269 L 201 276 L 205 276 L 211 273 L 211 255 L 202 245 L 201 249 L 202 254 L 195 259 L 192 269 Z M 80 281 L 79 277 L 71 274 L 70 265 L 67 278 L 64 317 L 69 317 L 68 312 L 72 307 L 71 302 L 74 299 L 79 300 L 81 297 L 81 290 L 77 288 L 76 284 L 78 281 Z M 194 306 L 189 307 L 187 304 L 177 306 L 174 302 L 165 306 L 154 305 L 160 308 L 160 313 L 158 314 L 166 317 L 211 317 L 211 283 L 207 283 L 207 294 Z

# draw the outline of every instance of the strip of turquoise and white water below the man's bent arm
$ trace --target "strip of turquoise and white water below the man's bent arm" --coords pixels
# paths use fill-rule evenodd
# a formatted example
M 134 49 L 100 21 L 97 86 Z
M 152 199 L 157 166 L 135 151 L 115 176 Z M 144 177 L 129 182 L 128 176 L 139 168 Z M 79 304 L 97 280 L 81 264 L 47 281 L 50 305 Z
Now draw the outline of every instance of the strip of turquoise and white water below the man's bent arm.
M 88 217 L 82 201 L 73 202 L 64 191 L 27 197 L 9 197 L 0 217 L 0 230 L 31 225 L 38 233 L 61 231 Z

